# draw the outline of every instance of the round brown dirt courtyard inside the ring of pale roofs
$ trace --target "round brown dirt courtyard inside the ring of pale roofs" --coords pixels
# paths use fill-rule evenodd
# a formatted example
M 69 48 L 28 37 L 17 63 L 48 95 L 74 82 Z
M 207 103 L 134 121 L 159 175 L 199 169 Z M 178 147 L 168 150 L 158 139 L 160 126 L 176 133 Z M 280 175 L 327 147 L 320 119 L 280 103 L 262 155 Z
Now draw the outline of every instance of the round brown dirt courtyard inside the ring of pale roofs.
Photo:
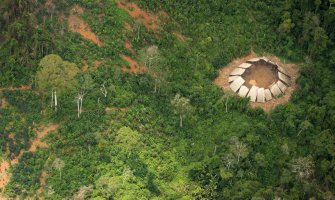
M 264 64 L 252 65 L 244 72 L 242 77 L 245 80 L 245 85 L 249 88 L 253 85 L 268 88 L 272 83 L 279 80 L 275 68 Z

